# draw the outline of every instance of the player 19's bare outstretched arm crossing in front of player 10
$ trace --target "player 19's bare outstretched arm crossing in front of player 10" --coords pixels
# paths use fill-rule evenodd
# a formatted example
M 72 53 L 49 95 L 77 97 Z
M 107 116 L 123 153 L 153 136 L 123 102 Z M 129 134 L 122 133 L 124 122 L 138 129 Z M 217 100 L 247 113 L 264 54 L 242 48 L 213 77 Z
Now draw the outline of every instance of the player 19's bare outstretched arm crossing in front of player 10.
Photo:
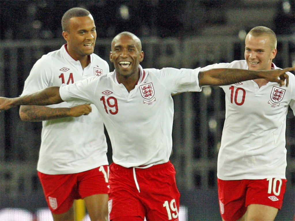
M 295 70 L 295 67 L 268 71 L 250 71 L 234 68 L 210 69 L 199 72 L 199 85 L 230 85 L 245 80 L 263 78 L 271 82 L 277 82 L 280 86 L 285 85 L 286 80 L 286 86 L 288 86 L 289 76 L 285 73 L 292 70 Z

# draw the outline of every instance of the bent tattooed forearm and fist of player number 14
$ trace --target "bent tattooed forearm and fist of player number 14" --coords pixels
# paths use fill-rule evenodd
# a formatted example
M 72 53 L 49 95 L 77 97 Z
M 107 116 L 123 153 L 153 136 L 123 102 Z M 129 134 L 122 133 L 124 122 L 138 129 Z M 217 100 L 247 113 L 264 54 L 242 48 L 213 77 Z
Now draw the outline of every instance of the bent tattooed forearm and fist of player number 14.
M 63 117 L 79 117 L 92 111 L 90 104 L 72 108 L 50 108 L 46 106 L 21 105 L 19 116 L 22 121 L 47 121 Z

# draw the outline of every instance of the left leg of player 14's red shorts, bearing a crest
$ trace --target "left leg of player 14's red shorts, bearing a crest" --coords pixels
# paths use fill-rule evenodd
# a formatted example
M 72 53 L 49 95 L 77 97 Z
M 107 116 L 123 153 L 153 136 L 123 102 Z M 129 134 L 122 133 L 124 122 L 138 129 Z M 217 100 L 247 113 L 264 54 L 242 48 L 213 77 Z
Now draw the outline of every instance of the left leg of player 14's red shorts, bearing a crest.
M 54 214 L 67 212 L 77 193 L 75 174 L 48 175 L 38 171 L 48 207 Z

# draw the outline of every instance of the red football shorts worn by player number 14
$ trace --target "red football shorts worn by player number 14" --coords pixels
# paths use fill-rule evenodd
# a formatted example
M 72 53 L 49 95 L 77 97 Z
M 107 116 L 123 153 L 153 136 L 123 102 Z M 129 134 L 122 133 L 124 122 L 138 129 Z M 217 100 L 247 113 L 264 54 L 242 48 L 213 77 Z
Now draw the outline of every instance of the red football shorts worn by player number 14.
M 54 214 L 67 212 L 74 199 L 108 194 L 109 166 L 104 165 L 76 174 L 49 175 L 38 171 L 49 209 Z

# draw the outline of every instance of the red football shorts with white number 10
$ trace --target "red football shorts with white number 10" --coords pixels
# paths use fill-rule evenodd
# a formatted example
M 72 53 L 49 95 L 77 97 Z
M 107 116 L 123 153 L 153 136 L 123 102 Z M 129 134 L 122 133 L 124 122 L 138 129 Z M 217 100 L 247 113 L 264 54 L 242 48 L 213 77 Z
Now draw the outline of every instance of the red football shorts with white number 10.
M 238 220 L 250 204 L 262 204 L 281 209 L 286 191 L 286 179 L 258 180 L 217 179 L 219 209 L 224 220 Z

